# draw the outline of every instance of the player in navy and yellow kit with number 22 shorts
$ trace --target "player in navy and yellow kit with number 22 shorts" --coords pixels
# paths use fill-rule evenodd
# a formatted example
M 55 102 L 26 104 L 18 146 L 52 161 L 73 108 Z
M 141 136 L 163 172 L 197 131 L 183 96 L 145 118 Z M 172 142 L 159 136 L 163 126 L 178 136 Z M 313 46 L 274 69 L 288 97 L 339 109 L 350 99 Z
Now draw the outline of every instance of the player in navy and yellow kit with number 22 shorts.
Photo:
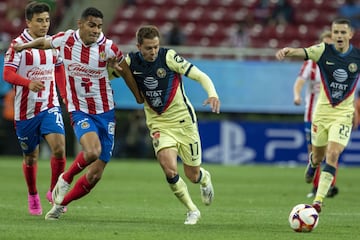
M 322 84 L 311 127 L 312 154 L 305 172 L 305 178 L 313 177 L 316 167 L 326 158 L 313 201 L 318 212 L 334 179 L 339 156 L 349 142 L 355 119 L 354 92 L 360 72 L 360 49 L 350 44 L 353 35 L 349 20 L 336 19 L 331 25 L 334 44 L 285 47 L 276 53 L 279 60 L 285 57 L 312 59 L 321 72 Z

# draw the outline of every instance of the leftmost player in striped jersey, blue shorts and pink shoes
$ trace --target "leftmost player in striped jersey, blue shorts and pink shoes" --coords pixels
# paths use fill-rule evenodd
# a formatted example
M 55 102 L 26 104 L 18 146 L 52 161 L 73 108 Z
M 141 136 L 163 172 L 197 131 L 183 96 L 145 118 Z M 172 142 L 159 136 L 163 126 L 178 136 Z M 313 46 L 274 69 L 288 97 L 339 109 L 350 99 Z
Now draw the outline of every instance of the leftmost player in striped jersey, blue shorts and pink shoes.
M 36 186 L 39 143 L 44 138 L 51 149 L 51 191 L 65 169 L 65 131 L 56 91 L 64 86 L 64 66 L 55 49 L 27 49 L 16 52 L 13 45 L 44 37 L 50 26 L 50 7 L 45 3 L 26 6 L 27 28 L 15 38 L 6 52 L 4 79 L 14 85 L 14 120 L 16 134 L 24 153 L 23 173 L 28 187 L 31 215 L 41 215 L 42 207 Z M 55 82 L 56 80 L 56 82 Z

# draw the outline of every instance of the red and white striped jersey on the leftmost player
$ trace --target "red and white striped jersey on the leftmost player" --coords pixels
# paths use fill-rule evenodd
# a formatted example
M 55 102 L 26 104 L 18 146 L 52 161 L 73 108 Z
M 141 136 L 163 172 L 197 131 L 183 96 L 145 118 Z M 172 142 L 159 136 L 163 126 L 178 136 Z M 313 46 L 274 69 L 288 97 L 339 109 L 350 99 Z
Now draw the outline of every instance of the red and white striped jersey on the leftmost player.
M 12 43 L 27 43 L 33 38 L 25 29 Z M 15 85 L 14 120 L 33 118 L 39 112 L 60 106 L 55 84 L 55 65 L 61 64 L 59 52 L 55 49 L 26 49 L 16 52 L 12 45 L 7 50 L 4 66 L 17 69 L 17 74 L 32 81 L 42 81 L 45 88 L 33 92 L 27 87 Z

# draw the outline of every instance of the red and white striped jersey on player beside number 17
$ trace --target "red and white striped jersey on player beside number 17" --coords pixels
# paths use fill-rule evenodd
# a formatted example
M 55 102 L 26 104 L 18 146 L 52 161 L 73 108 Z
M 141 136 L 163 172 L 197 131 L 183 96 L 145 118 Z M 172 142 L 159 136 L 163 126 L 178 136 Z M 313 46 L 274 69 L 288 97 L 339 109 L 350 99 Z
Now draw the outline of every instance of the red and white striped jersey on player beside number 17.
M 67 30 L 52 36 L 51 45 L 59 49 L 64 61 L 68 111 L 100 114 L 112 110 L 114 99 L 107 60 L 124 58 L 113 41 L 101 33 L 96 43 L 86 46 L 79 30 Z

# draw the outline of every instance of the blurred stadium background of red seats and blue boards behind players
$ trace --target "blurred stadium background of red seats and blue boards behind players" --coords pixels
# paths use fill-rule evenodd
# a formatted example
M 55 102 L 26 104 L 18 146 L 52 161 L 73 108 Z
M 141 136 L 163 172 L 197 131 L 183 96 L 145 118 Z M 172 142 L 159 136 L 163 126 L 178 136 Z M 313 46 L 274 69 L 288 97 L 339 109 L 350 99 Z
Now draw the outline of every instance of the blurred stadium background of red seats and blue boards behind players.
M 279 63 L 277 48 L 309 46 L 339 16 L 345 0 L 44 0 L 52 9 L 50 34 L 76 28 L 76 20 L 88 6 L 104 13 L 104 33 L 124 53 L 135 50 L 135 31 L 155 24 L 167 36 L 180 26 L 183 42 L 169 45 L 213 79 L 223 113 L 211 114 L 202 107 L 206 95 L 185 79 L 187 95 L 197 109 L 204 161 L 220 164 L 304 164 L 304 106 L 293 105 L 292 86 L 301 61 Z M 284 2 L 288 5 L 279 8 Z M 27 1 L 0 0 L 1 60 L 9 41 L 25 27 Z M 280 11 L 280 14 L 274 14 Z M 234 42 L 241 27 L 245 37 Z M 357 44 L 358 34 L 353 43 Z M 165 40 L 165 38 L 164 38 Z M 2 64 L 2 62 L 1 62 Z M 2 69 L 1 69 L 2 71 Z M 1 72 L 2 76 L 2 72 Z M 116 158 L 153 158 L 141 106 L 136 105 L 122 80 L 114 80 L 117 103 Z M 10 86 L 0 81 L 0 103 Z M 69 120 L 68 156 L 77 151 Z M 9 121 L 0 119 L 0 155 L 20 154 Z M 46 145 L 43 146 L 46 150 Z M 46 151 L 43 151 L 46 154 Z M 360 164 L 360 133 L 341 157 L 346 165 Z

